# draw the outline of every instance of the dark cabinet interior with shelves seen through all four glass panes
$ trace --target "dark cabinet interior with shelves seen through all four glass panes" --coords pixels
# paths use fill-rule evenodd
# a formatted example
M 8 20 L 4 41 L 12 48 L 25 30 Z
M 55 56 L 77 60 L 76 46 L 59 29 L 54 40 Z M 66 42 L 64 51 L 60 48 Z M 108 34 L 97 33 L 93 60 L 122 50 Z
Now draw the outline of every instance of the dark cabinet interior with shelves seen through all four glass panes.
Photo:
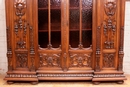
M 69 1 L 69 44 L 73 48 L 79 45 L 79 32 L 82 26 L 82 44 L 83 47 L 89 47 L 92 44 L 92 0 L 70 0 Z M 54 48 L 61 45 L 61 0 L 50 0 L 50 18 L 51 18 L 51 44 Z M 82 5 L 82 13 L 80 9 Z M 49 41 L 48 33 L 48 0 L 38 1 L 38 40 L 42 48 L 46 48 Z M 80 26 L 80 15 L 82 25 Z

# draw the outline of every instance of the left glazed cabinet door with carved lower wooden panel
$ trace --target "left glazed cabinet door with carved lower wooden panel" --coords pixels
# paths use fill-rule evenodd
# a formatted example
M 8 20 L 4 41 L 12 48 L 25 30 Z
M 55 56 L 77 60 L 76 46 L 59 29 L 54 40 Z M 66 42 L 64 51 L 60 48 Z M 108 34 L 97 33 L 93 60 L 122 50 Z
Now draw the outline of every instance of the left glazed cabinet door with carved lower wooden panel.
M 37 4 L 38 72 L 62 71 L 63 0 L 38 0 Z

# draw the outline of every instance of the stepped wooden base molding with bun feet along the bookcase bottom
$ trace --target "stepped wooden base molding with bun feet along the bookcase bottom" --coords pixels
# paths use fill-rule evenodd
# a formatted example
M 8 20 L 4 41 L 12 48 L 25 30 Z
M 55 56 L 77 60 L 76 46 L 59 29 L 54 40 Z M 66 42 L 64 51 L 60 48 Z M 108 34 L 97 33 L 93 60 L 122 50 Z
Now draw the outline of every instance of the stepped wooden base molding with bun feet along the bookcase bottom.
M 103 81 L 116 81 L 118 84 L 124 83 L 127 80 L 123 73 L 103 73 L 103 72 L 90 72 L 90 73 L 36 73 L 36 72 L 7 72 L 4 80 L 7 80 L 8 84 L 13 84 L 15 81 L 30 81 L 31 84 L 35 85 L 40 80 L 90 80 L 94 84 L 99 84 Z

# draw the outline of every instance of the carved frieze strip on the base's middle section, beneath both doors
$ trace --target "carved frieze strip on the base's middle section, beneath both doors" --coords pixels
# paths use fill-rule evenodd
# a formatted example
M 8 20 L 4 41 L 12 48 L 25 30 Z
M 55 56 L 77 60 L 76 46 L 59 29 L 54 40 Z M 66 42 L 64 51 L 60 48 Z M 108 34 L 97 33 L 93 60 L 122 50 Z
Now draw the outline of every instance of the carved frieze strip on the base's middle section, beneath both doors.
M 92 77 L 93 74 L 63 74 L 63 73 L 59 73 L 59 74 L 38 74 L 38 77 Z

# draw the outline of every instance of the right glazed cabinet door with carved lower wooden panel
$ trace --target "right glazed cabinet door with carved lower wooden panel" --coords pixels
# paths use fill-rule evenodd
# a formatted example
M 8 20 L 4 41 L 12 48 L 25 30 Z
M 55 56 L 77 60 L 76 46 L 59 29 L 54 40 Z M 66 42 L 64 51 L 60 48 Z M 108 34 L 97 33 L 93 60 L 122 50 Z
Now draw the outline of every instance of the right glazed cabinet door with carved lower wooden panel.
M 94 40 L 93 8 L 95 0 L 67 0 L 68 71 L 93 72 Z M 86 72 L 87 71 L 87 72 Z

